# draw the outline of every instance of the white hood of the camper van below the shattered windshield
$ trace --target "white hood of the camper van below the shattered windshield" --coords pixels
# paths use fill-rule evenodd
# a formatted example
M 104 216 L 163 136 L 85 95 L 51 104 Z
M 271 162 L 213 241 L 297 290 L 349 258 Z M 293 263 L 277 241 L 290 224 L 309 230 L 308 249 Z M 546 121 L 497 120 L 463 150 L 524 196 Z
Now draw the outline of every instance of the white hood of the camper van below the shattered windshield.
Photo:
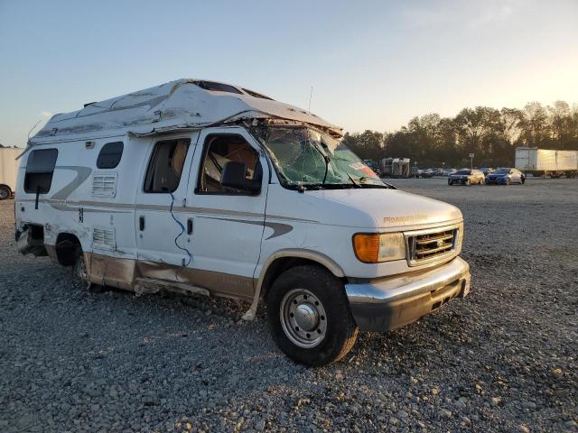
M 322 224 L 339 226 L 414 229 L 462 219 L 457 207 L 397 189 L 306 191 L 303 205 L 294 212 Z

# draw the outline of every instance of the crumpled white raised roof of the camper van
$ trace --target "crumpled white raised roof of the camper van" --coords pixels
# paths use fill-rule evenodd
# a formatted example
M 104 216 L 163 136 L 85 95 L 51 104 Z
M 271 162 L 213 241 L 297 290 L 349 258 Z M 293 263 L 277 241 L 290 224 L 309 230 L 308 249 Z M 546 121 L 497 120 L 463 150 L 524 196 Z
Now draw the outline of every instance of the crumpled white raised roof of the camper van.
M 274 117 L 314 124 L 342 134 L 316 115 L 243 88 L 239 93 L 206 90 L 201 80 L 179 79 L 121 97 L 89 104 L 78 111 L 53 115 L 31 144 L 97 138 L 108 133 L 154 134 L 179 128 L 222 124 L 241 118 Z

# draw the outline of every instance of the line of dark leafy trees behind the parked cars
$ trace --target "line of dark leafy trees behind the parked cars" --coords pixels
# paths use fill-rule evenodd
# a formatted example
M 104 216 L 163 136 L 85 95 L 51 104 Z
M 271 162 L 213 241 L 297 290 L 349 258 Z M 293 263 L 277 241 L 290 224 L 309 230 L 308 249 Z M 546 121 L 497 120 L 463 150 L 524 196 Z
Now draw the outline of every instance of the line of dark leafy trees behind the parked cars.
M 346 133 L 344 143 L 360 158 L 405 157 L 419 167 L 509 166 L 518 146 L 578 150 L 578 106 L 531 102 L 523 109 L 463 108 L 455 117 L 415 116 L 393 133 Z M 467 164 L 466 164 L 467 162 Z

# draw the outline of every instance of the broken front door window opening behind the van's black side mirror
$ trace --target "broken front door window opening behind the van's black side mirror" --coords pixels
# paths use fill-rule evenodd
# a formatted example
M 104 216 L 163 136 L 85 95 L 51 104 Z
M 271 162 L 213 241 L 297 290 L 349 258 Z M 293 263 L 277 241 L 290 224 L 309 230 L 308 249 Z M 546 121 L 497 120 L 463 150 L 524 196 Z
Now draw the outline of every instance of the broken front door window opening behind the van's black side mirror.
M 236 189 L 229 189 L 220 184 L 223 167 L 229 161 L 245 164 L 247 167 L 245 177 L 247 180 L 253 180 L 258 167 L 258 155 L 242 136 L 223 134 L 207 137 L 195 192 L 197 194 L 241 194 Z

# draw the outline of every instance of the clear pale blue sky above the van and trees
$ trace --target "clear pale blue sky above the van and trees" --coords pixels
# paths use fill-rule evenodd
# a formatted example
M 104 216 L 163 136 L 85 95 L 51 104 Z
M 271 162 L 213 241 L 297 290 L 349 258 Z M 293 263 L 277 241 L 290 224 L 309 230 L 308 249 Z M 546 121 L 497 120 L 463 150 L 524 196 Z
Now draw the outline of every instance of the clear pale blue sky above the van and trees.
M 0 0 L 0 143 L 177 78 L 252 88 L 347 131 L 465 106 L 578 103 L 578 1 Z

